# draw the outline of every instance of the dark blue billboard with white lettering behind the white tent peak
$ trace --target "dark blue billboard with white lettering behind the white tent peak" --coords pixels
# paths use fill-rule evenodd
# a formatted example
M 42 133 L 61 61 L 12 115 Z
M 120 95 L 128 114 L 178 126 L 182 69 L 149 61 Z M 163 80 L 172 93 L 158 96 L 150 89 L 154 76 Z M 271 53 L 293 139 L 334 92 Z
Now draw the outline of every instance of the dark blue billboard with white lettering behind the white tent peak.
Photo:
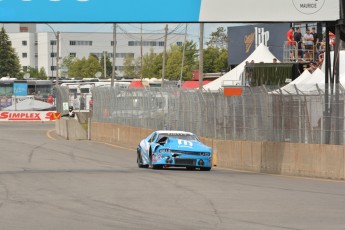
M 270 52 L 282 61 L 283 44 L 289 28 L 290 23 L 228 27 L 228 64 L 240 64 L 261 43 L 269 47 Z

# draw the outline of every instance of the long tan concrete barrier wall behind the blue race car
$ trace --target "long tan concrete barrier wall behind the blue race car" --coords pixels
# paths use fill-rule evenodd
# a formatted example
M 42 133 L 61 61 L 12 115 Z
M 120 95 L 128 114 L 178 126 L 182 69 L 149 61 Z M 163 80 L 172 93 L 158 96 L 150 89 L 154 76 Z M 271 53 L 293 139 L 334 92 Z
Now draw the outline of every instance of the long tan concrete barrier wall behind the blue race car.
M 153 130 L 93 122 L 91 138 L 136 149 Z M 291 176 L 345 179 L 345 146 L 201 138 L 219 167 Z

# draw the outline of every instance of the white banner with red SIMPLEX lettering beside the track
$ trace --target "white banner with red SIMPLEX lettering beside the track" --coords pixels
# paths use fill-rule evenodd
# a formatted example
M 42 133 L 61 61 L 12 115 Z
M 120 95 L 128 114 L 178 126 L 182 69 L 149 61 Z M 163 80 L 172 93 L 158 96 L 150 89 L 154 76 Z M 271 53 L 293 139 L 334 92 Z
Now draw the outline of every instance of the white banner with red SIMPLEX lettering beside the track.
M 56 111 L 0 111 L 0 121 L 50 121 Z

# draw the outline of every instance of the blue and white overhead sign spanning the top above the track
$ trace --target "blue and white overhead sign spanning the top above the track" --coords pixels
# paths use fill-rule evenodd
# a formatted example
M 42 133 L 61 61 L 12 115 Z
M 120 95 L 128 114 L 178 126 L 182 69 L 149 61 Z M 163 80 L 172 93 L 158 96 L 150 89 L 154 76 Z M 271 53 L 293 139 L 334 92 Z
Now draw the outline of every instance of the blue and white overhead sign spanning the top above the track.
M 297 22 L 340 19 L 340 0 L 0 0 L 0 22 Z

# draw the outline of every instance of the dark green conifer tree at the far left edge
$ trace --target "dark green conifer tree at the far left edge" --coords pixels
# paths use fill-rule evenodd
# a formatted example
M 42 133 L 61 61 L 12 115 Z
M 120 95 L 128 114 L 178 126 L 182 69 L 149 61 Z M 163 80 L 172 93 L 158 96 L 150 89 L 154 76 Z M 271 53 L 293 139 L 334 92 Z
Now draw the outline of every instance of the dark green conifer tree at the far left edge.
M 0 30 L 0 77 L 19 77 L 20 68 L 18 55 L 2 27 Z

